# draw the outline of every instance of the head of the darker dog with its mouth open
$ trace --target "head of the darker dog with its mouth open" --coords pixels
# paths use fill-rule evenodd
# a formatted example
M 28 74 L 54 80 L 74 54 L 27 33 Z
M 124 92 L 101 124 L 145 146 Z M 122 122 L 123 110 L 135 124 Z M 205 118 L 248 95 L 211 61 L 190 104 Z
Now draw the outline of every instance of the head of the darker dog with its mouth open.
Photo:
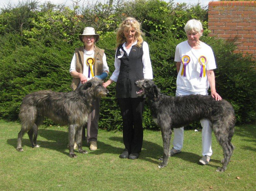
M 157 98 L 161 94 L 152 80 L 138 80 L 135 82 L 135 85 L 140 88 L 140 90 L 136 92 L 139 96 L 146 94 L 148 98 Z

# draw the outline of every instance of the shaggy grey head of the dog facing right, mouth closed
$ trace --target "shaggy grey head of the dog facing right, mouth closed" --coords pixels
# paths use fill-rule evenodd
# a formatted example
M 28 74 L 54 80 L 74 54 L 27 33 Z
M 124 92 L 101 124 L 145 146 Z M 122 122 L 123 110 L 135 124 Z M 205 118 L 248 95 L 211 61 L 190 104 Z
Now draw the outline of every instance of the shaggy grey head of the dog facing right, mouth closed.
M 109 94 L 109 91 L 103 86 L 103 80 L 99 78 L 93 78 L 82 84 L 80 87 L 80 92 L 87 96 L 93 96 L 101 98 Z

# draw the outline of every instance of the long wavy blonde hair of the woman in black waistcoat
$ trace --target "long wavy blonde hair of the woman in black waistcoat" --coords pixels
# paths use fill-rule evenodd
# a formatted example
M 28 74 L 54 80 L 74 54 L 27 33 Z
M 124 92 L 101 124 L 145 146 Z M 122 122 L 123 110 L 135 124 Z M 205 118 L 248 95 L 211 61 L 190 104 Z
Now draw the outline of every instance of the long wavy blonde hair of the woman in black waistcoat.
M 135 30 L 135 36 L 134 39 L 137 40 L 137 47 L 142 47 L 142 35 L 144 35 L 144 33 L 142 33 L 142 31 L 140 30 L 140 26 L 141 24 L 134 19 L 133 17 L 127 17 L 122 23 L 120 23 L 118 29 L 116 30 L 116 48 L 120 45 L 123 44 L 124 42 L 126 42 L 126 38 L 123 34 L 123 31 L 126 28 L 134 28 Z

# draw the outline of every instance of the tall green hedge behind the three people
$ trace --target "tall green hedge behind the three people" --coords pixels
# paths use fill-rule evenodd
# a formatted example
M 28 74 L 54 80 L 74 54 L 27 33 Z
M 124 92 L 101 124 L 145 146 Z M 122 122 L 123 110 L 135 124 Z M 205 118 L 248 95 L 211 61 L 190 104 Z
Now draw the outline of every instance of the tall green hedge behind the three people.
M 188 7 L 186 4 L 174 5 L 159 0 L 137 0 L 124 2 L 115 8 L 113 4 L 105 7 L 98 4 L 95 9 L 98 15 L 97 11 L 90 9 L 83 10 L 80 17 L 76 16 L 77 8 L 70 10 L 62 7 L 55 11 L 54 6 L 49 6 L 52 8 L 43 7 L 34 11 L 33 6 L 25 3 L 0 13 L 0 118 L 7 120 L 18 119 L 21 100 L 28 93 L 42 89 L 71 91 L 70 61 L 74 49 L 81 46 L 77 35 L 84 26 L 94 26 L 101 33 L 97 46 L 105 49 L 110 77 L 114 71 L 113 29 L 133 10 L 131 16 L 142 22 L 142 30 L 146 34 L 144 40 L 149 44 L 154 81 L 162 93 L 171 96 L 176 90 L 175 47 L 186 40 L 183 32 L 185 22 L 191 18 L 202 20 L 204 34 L 207 34 L 207 11 L 198 5 Z M 154 12 L 155 9 L 158 11 Z M 26 13 L 29 14 L 22 17 L 26 25 L 21 29 L 18 25 L 21 18 L 16 17 Z M 12 20 L 15 22 L 12 23 Z M 52 27 L 52 23 L 56 23 L 56 28 Z M 236 49 L 234 43 L 205 36 L 201 40 L 214 51 L 216 90 L 234 106 L 237 123 L 255 122 L 255 61 L 249 56 L 233 53 Z M 110 95 L 101 100 L 99 127 L 121 130 L 115 83 L 108 89 Z M 143 117 L 143 128 L 158 129 L 147 105 Z M 52 122 L 48 120 L 47 123 Z M 198 123 L 188 128 L 195 127 Z

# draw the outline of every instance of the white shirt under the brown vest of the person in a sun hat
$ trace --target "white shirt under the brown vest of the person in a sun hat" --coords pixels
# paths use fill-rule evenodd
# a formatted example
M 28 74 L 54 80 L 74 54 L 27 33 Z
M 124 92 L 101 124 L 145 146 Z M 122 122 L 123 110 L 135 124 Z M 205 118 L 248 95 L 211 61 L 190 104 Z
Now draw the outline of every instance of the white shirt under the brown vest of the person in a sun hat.
M 83 75 L 88 79 L 88 80 L 91 80 L 92 79 L 92 75 L 91 75 L 91 72 L 89 73 L 89 65 L 86 64 L 86 60 L 88 58 L 94 58 L 94 50 L 91 50 L 91 51 L 86 51 L 84 50 L 84 66 L 83 66 Z M 103 71 L 102 72 L 105 72 L 105 71 L 109 71 L 109 67 L 108 67 L 108 64 L 107 64 L 107 61 L 106 61 L 106 55 L 105 53 L 103 54 Z M 72 71 L 77 71 L 76 70 L 76 62 L 77 62 L 77 57 L 76 57 L 76 53 L 74 53 L 74 56 L 72 58 L 72 61 L 71 61 L 71 64 L 70 64 L 70 69 L 69 69 L 69 73 L 72 72 Z M 92 65 L 92 70 L 94 68 L 94 65 Z M 91 70 L 91 69 L 90 69 Z M 95 74 L 94 74 L 95 75 Z M 78 86 L 81 85 L 81 82 L 79 83 Z

